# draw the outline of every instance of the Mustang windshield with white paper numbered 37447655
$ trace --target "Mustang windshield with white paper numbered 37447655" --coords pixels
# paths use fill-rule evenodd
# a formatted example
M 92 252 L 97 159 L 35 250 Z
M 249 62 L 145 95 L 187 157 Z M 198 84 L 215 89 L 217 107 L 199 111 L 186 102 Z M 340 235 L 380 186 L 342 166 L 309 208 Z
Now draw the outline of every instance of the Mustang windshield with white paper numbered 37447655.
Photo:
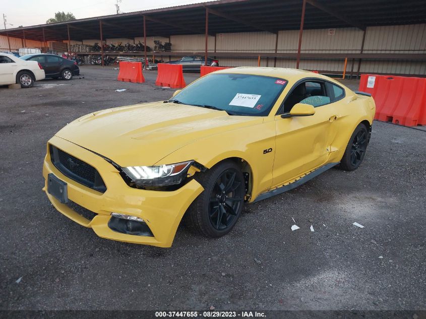
M 225 110 L 232 115 L 267 116 L 287 85 L 279 78 L 251 74 L 210 74 L 170 101 Z

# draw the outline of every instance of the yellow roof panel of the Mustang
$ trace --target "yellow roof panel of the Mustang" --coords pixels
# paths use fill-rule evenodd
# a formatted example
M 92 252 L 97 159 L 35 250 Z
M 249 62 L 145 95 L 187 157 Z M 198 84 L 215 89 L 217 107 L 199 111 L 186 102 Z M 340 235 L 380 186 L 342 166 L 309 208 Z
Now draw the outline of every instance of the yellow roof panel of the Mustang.
M 290 68 L 268 68 L 268 67 L 238 67 L 216 71 L 215 73 L 233 73 L 233 74 L 251 74 L 265 77 L 276 77 L 289 81 L 290 83 L 297 82 L 303 78 L 318 78 L 327 80 L 336 84 L 341 84 L 332 78 L 314 73 L 307 70 L 290 69 Z

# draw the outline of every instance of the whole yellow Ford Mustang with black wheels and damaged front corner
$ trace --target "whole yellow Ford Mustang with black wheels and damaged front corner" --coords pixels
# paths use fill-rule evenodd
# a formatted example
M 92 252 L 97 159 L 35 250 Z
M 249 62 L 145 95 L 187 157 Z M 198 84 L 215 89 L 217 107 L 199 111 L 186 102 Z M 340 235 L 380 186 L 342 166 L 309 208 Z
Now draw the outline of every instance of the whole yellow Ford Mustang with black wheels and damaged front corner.
M 340 164 L 356 169 L 375 113 L 367 93 L 308 71 L 235 68 L 168 101 L 85 115 L 47 143 L 54 207 L 103 238 L 170 247 L 182 218 L 219 237 L 246 203 Z

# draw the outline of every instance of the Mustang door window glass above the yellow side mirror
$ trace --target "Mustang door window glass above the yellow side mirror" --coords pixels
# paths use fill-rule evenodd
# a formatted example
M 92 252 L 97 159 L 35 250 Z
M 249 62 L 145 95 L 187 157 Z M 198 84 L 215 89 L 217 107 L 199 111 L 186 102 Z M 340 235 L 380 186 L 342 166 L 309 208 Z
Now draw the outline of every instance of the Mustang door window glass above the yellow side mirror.
M 307 81 L 297 85 L 285 99 L 281 114 L 290 112 L 297 103 L 311 104 L 318 107 L 328 104 L 331 97 L 322 81 Z

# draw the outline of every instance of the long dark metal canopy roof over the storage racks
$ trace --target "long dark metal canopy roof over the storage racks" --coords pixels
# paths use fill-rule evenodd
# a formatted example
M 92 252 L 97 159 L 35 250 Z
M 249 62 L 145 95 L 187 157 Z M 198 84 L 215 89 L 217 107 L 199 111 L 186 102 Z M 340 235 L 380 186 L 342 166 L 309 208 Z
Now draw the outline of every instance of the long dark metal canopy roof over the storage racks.
M 38 41 L 99 39 L 99 20 L 103 38 L 204 34 L 206 8 L 209 9 L 209 34 L 229 32 L 297 30 L 300 27 L 302 0 L 220 0 L 119 15 L 86 18 L 1 30 L 9 35 Z M 426 1 L 406 0 L 306 0 L 304 29 L 419 24 L 426 22 Z M 43 38 L 44 31 L 44 38 Z

